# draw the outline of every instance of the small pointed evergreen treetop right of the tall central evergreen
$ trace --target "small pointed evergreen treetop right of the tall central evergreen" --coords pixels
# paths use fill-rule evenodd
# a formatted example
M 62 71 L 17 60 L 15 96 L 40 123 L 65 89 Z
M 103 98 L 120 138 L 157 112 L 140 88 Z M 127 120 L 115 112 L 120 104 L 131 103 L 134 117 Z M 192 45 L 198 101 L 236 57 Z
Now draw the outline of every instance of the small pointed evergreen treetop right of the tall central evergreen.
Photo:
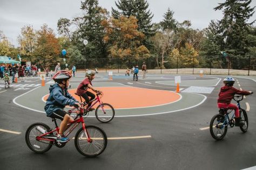
M 168 8 L 167 12 L 164 14 L 164 20 L 160 22 L 163 30 L 174 30 L 177 31 L 177 21 L 173 18 L 174 12 Z

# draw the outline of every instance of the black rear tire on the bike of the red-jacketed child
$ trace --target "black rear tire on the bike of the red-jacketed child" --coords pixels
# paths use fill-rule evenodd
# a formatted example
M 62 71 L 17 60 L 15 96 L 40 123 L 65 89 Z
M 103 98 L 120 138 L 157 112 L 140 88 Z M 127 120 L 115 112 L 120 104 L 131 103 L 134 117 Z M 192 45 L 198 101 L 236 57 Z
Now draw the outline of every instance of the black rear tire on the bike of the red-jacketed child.
M 214 115 L 211 119 L 211 122 L 210 122 L 210 133 L 211 133 L 211 136 L 216 139 L 216 140 L 221 140 L 225 137 L 226 133 L 227 133 L 227 125 L 225 125 L 224 129 L 220 129 L 220 128 L 216 128 L 216 125 L 218 125 L 220 122 L 217 121 L 217 119 L 223 119 L 225 120 L 225 116 L 221 115 L 221 114 L 217 114 L 217 115 Z M 216 124 L 217 123 L 217 124 Z M 213 127 L 214 126 L 214 127 Z M 214 129 L 220 129 L 220 130 L 217 130 L 217 134 L 214 132 Z M 223 131 L 224 130 L 224 131 Z M 220 134 L 220 132 L 222 132 L 222 134 Z

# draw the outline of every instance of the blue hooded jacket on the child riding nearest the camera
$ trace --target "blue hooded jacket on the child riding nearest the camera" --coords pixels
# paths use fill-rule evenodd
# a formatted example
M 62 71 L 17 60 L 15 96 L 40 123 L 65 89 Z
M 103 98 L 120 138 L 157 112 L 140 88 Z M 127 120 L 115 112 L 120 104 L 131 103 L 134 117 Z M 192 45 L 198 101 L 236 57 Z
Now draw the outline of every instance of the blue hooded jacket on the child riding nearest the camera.
M 68 89 L 62 89 L 57 83 L 51 85 L 49 90 L 50 95 L 44 107 L 47 116 L 50 116 L 52 112 L 58 109 L 63 110 L 66 105 L 73 106 L 75 103 L 78 103 L 77 100 L 69 94 Z

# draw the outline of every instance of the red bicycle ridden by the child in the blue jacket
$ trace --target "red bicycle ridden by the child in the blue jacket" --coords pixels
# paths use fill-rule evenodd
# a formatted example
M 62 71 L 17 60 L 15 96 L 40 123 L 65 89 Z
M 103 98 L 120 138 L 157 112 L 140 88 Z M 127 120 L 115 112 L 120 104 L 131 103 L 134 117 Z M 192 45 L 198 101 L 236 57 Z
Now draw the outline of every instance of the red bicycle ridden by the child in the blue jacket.
M 75 146 L 77 151 L 85 155 L 86 157 L 96 157 L 103 153 L 107 146 L 107 136 L 106 133 L 97 126 L 88 125 L 84 123 L 84 108 L 71 109 L 71 112 L 76 112 L 77 115 L 74 121 L 68 124 L 69 131 L 65 134 L 68 137 L 69 134 L 77 127 L 79 123 L 82 123 L 82 128 L 80 128 L 75 136 Z M 26 130 L 25 140 L 26 144 L 36 153 L 44 153 L 49 151 L 52 145 L 57 147 L 64 147 L 66 143 L 60 143 L 57 141 L 57 134 L 59 132 L 59 127 L 56 123 L 56 119 L 53 118 L 52 122 L 55 123 L 56 128 L 54 130 L 44 123 L 34 123 L 29 126 Z M 71 125 L 73 126 L 71 127 Z

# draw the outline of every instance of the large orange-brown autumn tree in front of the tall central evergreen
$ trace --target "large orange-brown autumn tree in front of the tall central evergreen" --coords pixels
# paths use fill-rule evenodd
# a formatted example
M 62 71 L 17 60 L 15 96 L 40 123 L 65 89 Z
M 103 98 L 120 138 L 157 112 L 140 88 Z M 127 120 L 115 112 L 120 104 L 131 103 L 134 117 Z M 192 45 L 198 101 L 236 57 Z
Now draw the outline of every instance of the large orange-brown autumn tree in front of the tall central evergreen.
M 149 50 L 142 45 L 144 34 L 137 30 L 137 19 L 133 16 L 111 18 L 104 20 L 102 25 L 105 27 L 104 41 L 109 49 L 110 57 L 133 57 L 147 58 Z

